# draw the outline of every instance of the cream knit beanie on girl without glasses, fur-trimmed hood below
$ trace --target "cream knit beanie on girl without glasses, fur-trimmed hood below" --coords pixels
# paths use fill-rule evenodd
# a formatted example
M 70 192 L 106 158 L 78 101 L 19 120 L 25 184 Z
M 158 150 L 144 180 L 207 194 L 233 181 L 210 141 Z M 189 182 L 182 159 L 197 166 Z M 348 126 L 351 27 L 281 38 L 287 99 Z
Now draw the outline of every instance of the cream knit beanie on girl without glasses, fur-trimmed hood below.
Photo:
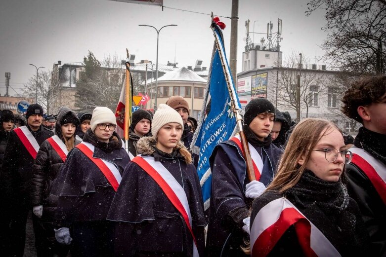
M 181 115 L 179 115 L 176 110 L 168 105 L 160 104 L 153 116 L 151 123 L 151 134 L 157 137 L 160 128 L 171 122 L 180 124 L 182 129 L 184 127 Z

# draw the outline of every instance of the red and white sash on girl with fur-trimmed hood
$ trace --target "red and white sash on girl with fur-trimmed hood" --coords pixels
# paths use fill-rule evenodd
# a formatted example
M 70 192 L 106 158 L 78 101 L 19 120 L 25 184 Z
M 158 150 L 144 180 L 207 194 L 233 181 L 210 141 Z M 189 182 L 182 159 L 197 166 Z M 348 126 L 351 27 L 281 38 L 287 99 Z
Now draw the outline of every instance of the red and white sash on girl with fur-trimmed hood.
M 198 257 L 196 237 L 192 230 L 192 216 L 190 214 L 189 202 L 182 186 L 175 180 L 172 174 L 159 161 L 149 156 L 143 158 L 137 155 L 131 160 L 139 165 L 153 180 L 161 187 L 173 206 L 182 215 L 193 237 L 193 257 Z

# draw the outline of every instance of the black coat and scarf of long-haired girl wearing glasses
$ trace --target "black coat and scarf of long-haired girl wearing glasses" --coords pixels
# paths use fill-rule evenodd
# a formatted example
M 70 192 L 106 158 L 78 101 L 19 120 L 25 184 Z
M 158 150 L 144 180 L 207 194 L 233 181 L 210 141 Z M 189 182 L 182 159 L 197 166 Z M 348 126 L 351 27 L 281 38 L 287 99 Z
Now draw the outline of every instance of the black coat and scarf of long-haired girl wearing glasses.
M 358 205 L 348 196 L 341 180 L 326 182 L 306 170 L 299 182 L 284 194 L 265 191 L 253 202 L 250 227 L 261 208 L 283 196 L 324 234 L 342 256 L 369 256 L 368 234 Z M 284 232 L 267 256 L 305 256 L 295 225 Z

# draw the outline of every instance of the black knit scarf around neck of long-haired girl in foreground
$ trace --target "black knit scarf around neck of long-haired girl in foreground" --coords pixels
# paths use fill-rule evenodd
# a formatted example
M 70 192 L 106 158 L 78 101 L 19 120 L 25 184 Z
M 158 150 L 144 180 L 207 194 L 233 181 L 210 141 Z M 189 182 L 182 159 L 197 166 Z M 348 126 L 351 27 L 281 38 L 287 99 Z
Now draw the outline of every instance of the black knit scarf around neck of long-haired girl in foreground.
M 296 205 L 304 208 L 316 204 L 332 220 L 347 208 L 349 199 L 341 179 L 338 182 L 327 182 L 309 170 L 305 170 L 299 182 L 285 194 L 293 198 Z

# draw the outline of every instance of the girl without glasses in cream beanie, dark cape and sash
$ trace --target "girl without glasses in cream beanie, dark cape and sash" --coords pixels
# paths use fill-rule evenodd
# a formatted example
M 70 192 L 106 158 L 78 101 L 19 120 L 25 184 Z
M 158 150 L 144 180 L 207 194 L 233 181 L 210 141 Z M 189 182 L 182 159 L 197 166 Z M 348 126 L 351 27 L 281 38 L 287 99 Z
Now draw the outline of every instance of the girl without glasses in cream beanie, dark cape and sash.
M 178 112 L 161 104 L 153 137 L 138 141 L 141 155 L 126 166 L 107 216 L 120 222 L 116 256 L 204 256 L 203 198 L 182 128 Z

